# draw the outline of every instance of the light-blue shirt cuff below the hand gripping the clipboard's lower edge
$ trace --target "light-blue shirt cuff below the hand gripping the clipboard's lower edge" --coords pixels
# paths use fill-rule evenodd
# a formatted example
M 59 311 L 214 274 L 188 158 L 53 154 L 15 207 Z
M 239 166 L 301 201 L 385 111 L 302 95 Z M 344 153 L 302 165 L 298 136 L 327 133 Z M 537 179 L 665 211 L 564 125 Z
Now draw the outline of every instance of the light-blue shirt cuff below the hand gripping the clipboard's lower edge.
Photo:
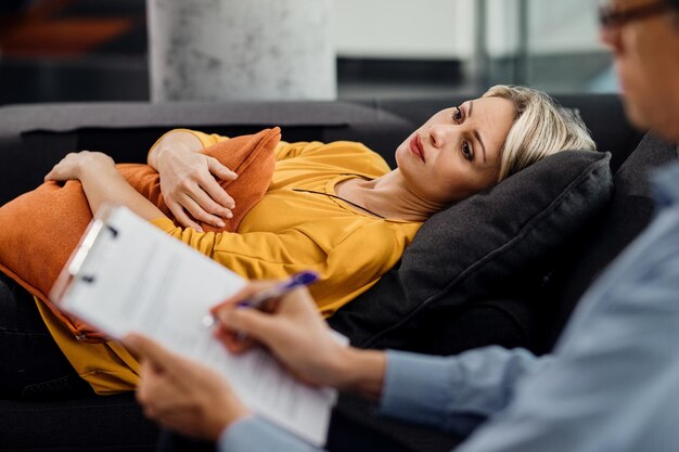
M 217 443 L 219 452 L 321 452 L 289 431 L 251 416 L 227 428 Z

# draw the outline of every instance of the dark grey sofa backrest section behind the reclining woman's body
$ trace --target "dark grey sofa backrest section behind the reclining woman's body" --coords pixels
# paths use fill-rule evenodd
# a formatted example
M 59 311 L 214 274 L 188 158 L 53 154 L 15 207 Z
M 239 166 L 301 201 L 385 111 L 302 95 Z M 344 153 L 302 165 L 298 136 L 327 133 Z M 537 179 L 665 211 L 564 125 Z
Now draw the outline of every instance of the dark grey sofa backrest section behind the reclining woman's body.
M 0 205 L 39 185 L 68 152 L 144 163 L 155 140 L 174 128 L 233 137 L 272 126 L 282 127 L 285 141 L 356 140 L 377 150 L 410 133 L 407 120 L 348 102 L 9 105 L 0 107 Z

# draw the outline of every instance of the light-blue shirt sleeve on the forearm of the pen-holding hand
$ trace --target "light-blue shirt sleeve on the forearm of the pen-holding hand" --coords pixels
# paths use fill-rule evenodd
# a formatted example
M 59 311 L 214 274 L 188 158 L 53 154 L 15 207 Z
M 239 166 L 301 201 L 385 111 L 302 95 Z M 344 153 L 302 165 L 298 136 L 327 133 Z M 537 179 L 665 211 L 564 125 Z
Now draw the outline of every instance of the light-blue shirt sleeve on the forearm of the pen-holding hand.
M 448 358 L 390 350 L 380 411 L 390 417 L 466 435 L 502 410 L 516 383 L 550 359 L 501 347 Z

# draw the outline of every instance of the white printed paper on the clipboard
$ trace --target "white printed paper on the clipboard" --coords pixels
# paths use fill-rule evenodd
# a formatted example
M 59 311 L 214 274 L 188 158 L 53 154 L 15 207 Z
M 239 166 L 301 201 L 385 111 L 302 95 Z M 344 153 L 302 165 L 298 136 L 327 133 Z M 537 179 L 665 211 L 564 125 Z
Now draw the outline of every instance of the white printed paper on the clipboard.
M 209 308 L 244 284 L 235 273 L 117 207 L 107 214 L 77 276 L 57 301 L 112 337 L 139 332 L 217 370 L 256 413 L 322 447 L 336 391 L 299 383 L 266 350 L 229 353 L 203 324 Z

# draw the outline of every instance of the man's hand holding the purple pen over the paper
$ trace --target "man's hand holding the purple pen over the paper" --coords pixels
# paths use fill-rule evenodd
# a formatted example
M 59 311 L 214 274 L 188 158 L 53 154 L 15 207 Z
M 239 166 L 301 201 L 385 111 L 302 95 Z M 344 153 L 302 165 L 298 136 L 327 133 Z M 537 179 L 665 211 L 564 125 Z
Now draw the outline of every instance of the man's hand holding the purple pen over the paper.
M 238 307 L 272 284 L 253 283 L 220 305 L 214 312 L 221 324 L 216 336 L 233 353 L 260 343 L 303 382 L 343 387 L 349 348 L 332 335 L 306 288 L 271 300 L 267 312 Z

